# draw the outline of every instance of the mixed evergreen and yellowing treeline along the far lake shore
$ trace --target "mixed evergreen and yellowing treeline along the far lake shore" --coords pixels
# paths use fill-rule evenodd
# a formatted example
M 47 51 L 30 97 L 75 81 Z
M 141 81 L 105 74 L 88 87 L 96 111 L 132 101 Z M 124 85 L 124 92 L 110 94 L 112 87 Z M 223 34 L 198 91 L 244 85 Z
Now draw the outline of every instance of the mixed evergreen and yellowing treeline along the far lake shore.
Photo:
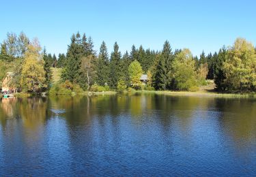
M 162 50 L 132 46 L 122 54 L 117 42 L 109 54 L 102 42 L 96 53 L 91 37 L 73 34 L 66 54 L 42 52 L 38 41 L 24 33 L 8 33 L 1 44 L 1 78 L 12 66 L 19 90 L 53 93 L 73 91 L 124 91 L 128 89 L 197 91 L 214 80 L 216 91 L 255 92 L 256 52 L 253 44 L 238 38 L 233 46 L 198 57 L 188 49 L 173 50 L 168 41 Z M 0 64 L 1 64 L 0 63 Z M 8 64 L 5 64 L 8 63 Z M 33 63 L 33 67 L 30 65 Z M 3 67 L 5 65 L 5 67 Z M 39 67 L 40 66 L 40 67 Z M 51 84 L 51 67 L 62 68 L 61 82 Z M 141 75 L 147 74 L 147 84 Z M 64 90 L 63 90 L 64 89 Z

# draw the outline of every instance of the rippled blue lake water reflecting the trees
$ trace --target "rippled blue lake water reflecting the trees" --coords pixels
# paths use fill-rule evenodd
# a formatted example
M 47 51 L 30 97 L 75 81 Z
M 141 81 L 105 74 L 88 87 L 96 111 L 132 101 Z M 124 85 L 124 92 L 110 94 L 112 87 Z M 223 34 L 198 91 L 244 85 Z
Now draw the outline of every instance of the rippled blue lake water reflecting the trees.
M 0 100 L 0 176 L 256 176 L 256 100 Z

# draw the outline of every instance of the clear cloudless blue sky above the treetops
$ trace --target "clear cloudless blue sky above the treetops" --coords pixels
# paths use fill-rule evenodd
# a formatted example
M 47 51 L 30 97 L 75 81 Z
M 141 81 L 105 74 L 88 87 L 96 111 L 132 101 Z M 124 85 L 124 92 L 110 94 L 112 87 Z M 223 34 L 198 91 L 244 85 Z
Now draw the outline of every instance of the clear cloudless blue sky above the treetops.
M 132 44 L 154 50 L 165 40 L 194 55 L 230 46 L 236 37 L 256 44 L 256 1 L 1 1 L 0 41 L 6 33 L 38 37 L 51 53 L 66 53 L 72 33 L 102 40 L 109 52 L 115 41 L 124 53 Z

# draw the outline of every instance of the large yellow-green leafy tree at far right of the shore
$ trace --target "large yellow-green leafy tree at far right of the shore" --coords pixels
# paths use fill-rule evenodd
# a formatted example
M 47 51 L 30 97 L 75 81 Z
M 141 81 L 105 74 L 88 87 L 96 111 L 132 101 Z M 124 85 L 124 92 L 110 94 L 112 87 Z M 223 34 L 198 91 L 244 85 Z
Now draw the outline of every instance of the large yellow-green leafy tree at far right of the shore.
M 227 91 L 256 91 L 256 52 L 253 44 L 238 38 L 223 63 Z

